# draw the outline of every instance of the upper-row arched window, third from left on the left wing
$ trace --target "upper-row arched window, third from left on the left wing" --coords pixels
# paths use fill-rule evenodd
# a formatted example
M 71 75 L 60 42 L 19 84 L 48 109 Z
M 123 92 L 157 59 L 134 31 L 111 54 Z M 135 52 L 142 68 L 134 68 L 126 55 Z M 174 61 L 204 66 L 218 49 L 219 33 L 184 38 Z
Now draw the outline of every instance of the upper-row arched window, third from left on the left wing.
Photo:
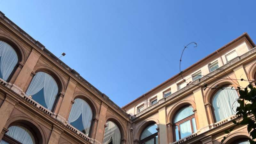
M 83 99 L 75 99 L 68 117 L 68 123 L 87 136 L 92 123 L 92 109 Z

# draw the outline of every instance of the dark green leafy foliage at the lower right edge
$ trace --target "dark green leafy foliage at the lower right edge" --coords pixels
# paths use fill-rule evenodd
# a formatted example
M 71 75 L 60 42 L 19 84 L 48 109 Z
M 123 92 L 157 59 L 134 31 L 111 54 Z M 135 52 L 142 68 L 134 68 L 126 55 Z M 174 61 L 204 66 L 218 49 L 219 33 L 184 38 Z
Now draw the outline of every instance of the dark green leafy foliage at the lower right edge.
M 236 126 L 238 125 L 247 125 L 247 131 L 250 133 L 250 143 L 256 144 L 254 141 L 256 139 L 256 88 L 249 84 L 246 88 L 239 89 L 240 97 L 237 102 L 240 104 L 239 107 L 236 108 L 236 115 L 239 119 L 233 120 L 232 122 L 236 124 L 231 127 L 229 130 L 226 130 L 225 133 L 229 134 Z M 221 140 L 221 143 L 226 139 L 224 137 Z

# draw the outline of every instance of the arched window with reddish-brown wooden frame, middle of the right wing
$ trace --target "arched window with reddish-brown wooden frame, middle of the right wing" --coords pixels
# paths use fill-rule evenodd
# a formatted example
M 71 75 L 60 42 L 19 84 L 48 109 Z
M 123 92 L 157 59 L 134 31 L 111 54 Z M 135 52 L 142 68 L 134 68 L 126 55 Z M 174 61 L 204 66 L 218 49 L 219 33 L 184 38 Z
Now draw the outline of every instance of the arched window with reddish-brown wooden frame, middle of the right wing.
M 193 108 L 185 106 L 181 108 L 173 119 L 176 141 L 196 132 L 196 120 Z

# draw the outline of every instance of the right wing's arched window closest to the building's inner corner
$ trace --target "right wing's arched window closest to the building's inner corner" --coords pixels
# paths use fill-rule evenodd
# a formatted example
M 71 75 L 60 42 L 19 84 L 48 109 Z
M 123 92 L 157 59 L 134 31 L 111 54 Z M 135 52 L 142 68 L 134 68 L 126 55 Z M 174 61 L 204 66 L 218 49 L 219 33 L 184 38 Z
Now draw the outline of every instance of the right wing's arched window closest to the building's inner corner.
M 140 136 L 140 144 L 158 144 L 157 125 L 150 124 Z

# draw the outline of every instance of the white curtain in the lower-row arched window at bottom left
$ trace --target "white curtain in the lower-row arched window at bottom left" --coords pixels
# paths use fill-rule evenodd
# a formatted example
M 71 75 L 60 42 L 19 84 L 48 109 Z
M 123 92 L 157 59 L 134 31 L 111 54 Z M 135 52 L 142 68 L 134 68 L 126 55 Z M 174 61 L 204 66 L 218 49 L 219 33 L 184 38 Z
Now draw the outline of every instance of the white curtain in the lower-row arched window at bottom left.
M 9 131 L 5 134 L 14 140 L 17 140 L 22 144 L 36 144 L 34 136 L 27 128 L 15 125 L 9 127 L 8 130 Z

